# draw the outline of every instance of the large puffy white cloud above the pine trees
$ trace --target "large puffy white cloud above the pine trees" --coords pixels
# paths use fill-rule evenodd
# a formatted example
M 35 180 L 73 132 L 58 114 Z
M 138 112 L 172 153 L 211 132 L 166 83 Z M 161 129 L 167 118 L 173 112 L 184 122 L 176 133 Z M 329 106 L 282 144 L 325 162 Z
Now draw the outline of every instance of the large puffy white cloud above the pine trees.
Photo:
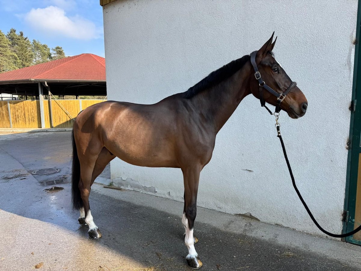
M 80 16 L 68 17 L 64 9 L 54 6 L 31 9 L 25 14 L 25 21 L 46 34 L 74 39 L 96 39 L 103 33 L 103 28 L 92 21 Z

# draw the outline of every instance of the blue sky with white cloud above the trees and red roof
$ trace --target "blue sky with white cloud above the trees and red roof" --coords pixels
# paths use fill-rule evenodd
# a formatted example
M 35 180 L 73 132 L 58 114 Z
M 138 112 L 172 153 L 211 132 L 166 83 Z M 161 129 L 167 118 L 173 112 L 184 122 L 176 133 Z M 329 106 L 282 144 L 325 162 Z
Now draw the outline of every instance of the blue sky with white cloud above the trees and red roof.
M 99 0 L 0 0 L 0 30 L 23 31 L 65 55 L 104 57 L 103 9 Z

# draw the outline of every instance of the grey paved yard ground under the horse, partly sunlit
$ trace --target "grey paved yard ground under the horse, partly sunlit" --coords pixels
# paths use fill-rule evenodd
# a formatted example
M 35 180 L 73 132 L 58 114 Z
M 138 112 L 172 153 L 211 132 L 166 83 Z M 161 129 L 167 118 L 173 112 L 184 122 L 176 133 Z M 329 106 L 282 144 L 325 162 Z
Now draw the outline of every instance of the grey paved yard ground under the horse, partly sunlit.
M 0 136 L 0 270 L 190 270 L 180 202 L 94 184 L 103 237 L 88 238 L 70 206 L 70 143 L 70 132 Z M 31 174 L 53 167 L 60 172 Z M 64 190 L 46 193 L 52 179 Z M 361 270 L 360 246 L 206 208 L 195 235 L 204 271 Z

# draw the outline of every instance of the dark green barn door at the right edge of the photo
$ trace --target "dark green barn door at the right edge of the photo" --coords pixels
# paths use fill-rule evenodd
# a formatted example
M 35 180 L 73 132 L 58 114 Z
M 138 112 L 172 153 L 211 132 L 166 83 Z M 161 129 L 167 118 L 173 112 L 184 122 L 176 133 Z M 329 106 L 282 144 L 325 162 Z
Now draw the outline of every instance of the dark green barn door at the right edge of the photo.
M 358 4 L 355 66 L 351 102 L 351 123 L 347 162 L 347 186 L 345 197 L 343 232 L 361 225 L 361 1 Z M 361 245 L 361 231 L 345 238 L 345 241 Z

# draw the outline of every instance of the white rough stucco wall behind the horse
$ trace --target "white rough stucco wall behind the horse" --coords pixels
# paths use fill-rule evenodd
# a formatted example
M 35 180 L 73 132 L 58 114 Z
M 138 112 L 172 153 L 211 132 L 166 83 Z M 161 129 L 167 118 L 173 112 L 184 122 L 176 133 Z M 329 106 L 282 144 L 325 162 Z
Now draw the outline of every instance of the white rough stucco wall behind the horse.
M 356 17 L 356 0 L 115 1 L 104 7 L 108 100 L 156 103 L 183 92 L 275 31 L 276 59 L 309 103 L 301 119 L 280 116 L 293 172 L 320 224 L 340 233 Z M 118 185 L 182 201 L 180 169 L 114 159 L 111 175 Z M 274 118 L 251 95 L 217 136 L 198 205 L 321 234 L 292 188 Z

